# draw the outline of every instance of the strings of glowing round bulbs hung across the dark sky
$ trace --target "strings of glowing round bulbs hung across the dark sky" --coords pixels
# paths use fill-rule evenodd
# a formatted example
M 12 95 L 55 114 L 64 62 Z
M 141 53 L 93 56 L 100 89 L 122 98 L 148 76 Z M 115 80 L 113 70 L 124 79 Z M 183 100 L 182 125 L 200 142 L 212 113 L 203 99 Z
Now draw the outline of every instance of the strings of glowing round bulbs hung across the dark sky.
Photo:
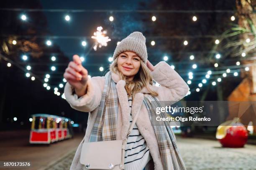
M 23 14 L 20 15 L 20 19 L 23 20 L 24 22 L 26 20 L 28 20 L 29 18 L 27 17 L 26 13 L 27 12 L 65 12 L 65 13 L 87 13 L 87 12 L 96 12 L 96 13 L 193 13 L 193 15 L 195 13 L 236 13 L 235 10 L 66 10 L 66 9 L 21 9 L 21 8 L 2 8 L 0 10 L 5 10 L 5 11 L 19 11 L 19 12 L 22 12 Z M 70 15 L 65 15 L 64 19 L 68 22 L 71 17 Z M 111 15 L 109 17 L 109 20 L 111 22 L 114 21 L 114 17 Z M 152 16 L 151 17 L 151 20 L 153 22 L 156 21 L 156 16 Z M 197 21 L 197 16 L 194 15 L 192 17 L 192 20 L 194 22 Z M 231 16 L 230 17 L 230 20 L 231 21 L 234 21 L 236 20 L 235 16 Z M 80 39 L 82 40 L 81 42 L 81 45 L 83 47 L 86 47 L 87 46 L 87 42 L 85 41 L 86 39 L 95 39 L 95 43 L 92 45 L 92 47 L 90 48 L 90 50 L 87 51 L 86 55 L 84 56 L 81 56 L 80 59 L 82 60 L 82 62 L 84 62 L 85 60 L 85 57 L 87 57 L 87 55 L 90 53 L 90 51 L 92 50 L 92 48 L 96 51 L 97 50 L 97 47 L 102 47 L 102 46 L 107 46 L 107 42 L 109 42 L 111 39 L 122 39 L 122 37 L 120 36 L 113 36 L 111 37 L 111 39 L 106 36 L 106 33 L 107 31 L 106 30 L 103 30 L 102 27 L 97 27 L 97 31 L 94 32 L 94 35 L 93 36 L 62 36 L 62 35 L 0 35 L 0 37 L 15 37 L 15 39 L 18 40 L 18 38 L 43 38 L 46 40 L 46 45 L 47 46 L 51 46 L 54 42 L 53 40 L 54 39 Z M 241 33 L 242 34 L 242 33 Z M 248 34 L 248 35 L 252 35 L 252 33 L 250 32 L 245 32 L 244 34 Z M 156 42 L 155 40 L 157 39 L 182 39 L 184 40 L 183 41 L 183 45 L 188 45 L 189 44 L 189 41 L 188 39 L 192 39 L 192 38 L 213 38 L 215 39 L 215 44 L 218 45 L 220 43 L 220 38 L 222 37 L 222 35 L 174 35 L 174 36 L 147 36 L 147 39 L 151 39 L 151 45 L 154 46 L 156 45 Z M 13 45 L 16 45 L 17 44 L 17 40 L 13 40 Z M 252 42 L 254 41 L 251 40 L 250 38 L 247 38 L 245 40 L 245 42 L 249 45 L 251 44 Z M 120 42 L 118 41 L 117 42 L 117 45 L 119 44 Z M 243 43 L 243 42 L 241 42 Z M 85 51 L 85 48 L 84 48 L 84 51 Z M 175 69 L 175 66 L 174 65 L 180 65 L 180 64 L 191 64 L 192 67 L 190 68 L 191 70 L 195 70 L 194 72 L 192 72 L 191 70 L 179 70 L 179 73 L 180 75 L 182 75 L 183 77 L 184 76 L 188 76 L 188 79 L 187 80 L 187 84 L 191 85 L 192 84 L 192 81 L 193 82 L 198 82 L 198 81 L 202 81 L 198 84 L 198 87 L 202 87 L 203 84 L 207 83 L 207 81 L 210 81 L 211 84 L 213 86 L 215 86 L 217 84 L 217 82 L 221 82 L 221 77 L 231 77 L 230 75 L 233 73 L 233 76 L 232 77 L 236 77 L 238 76 L 238 72 L 241 71 L 241 68 L 245 67 L 245 71 L 248 71 L 249 70 L 249 67 L 253 66 L 253 64 L 245 64 L 245 65 L 241 65 L 240 64 L 240 60 L 237 61 L 238 59 L 232 59 L 232 60 L 236 60 L 236 65 L 232 65 L 232 66 L 221 66 L 219 67 L 219 64 L 221 65 L 220 62 L 218 62 L 219 59 L 221 59 L 221 52 L 217 52 L 217 51 L 214 51 L 214 50 L 211 50 L 211 51 L 208 51 L 209 53 L 214 53 L 215 54 L 215 59 L 216 59 L 216 63 L 214 64 L 214 67 L 210 67 L 210 68 L 198 68 L 197 64 L 195 63 L 197 60 L 195 59 L 196 57 L 194 55 L 190 55 L 189 56 L 189 62 L 188 61 L 181 61 L 181 62 L 171 62 L 172 65 L 171 67 L 173 69 Z M 182 54 L 182 52 L 176 52 L 178 54 Z M 188 53 L 188 52 L 187 52 Z M 201 52 L 202 53 L 202 52 Z M 174 53 L 172 53 L 174 54 Z M 191 53 L 190 53 L 191 54 Z M 194 54 L 194 53 L 192 53 Z M 196 53 L 195 53 L 196 54 Z M 52 55 L 52 54 L 51 54 Z M 246 57 L 246 52 L 243 52 L 241 54 L 241 57 Z M 44 87 L 46 87 L 47 90 L 50 90 L 51 87 L 49 85 L 49 78 L 51 77 L 51 75 L 49 74 L 46 74 L 45 75 L 45 78 L 44 80 L 41 80 L 39 76 L 36 76 L 34 75 L 32 72 L 31 72 L 31 65 L 36 65 L 36 63 L 28 63 L 26 62 L 27 66 L 26 66 L 26 69 L 24 67 L 22 67 L 21 63 L 15 63 L 13 62 L 12 60 L 4 57 L 4 56 L 1 56 L 3 57 L 8 63 L 7 63 L 7 66 L 10 67 L 11 64 L 19 67 L 21 70 L 23 70 L 24 72 L 26 72 L 26 77 L 30 77 L 31 75 L 33 75 L 33 80 L 35 80 L 35 77 L 40 80 L 42 83 L 44 83 Z M 28 56 L 27 54 L 26 55 L 23 55 L 22 56 L 22 59 L 24 61 L 28 61 Z M 195 59 L 195 60 L 194 60 Z M 249 59 L 249 57 L 247 56 L 245 58 L 246 60 Z M 52 61 L 55 61 L 56 60 L 56 57 L 55 56 L 51 56 L 51 60 Z M 169 62 L 169 56 L 168 55 L 164 55 L 163 57 L 163 60 L 166 61 L 166 62 Z M 229 59 L 230 60 L 230 59 Z M 243 58 L 241 58 L 241 60 L 243 60 Z M 112 57 L 108 57 L 108 61 L 109 62 L 113 62 L 113 58 Z M 225 60 L 227 61 L 227 60 Z M 230 60 L 231 61 L 231 60 Z M 194 62 L 194 63 L 193 63 Z M 49 63 L 40 63 L 41 65 L 47 65 Z M 89 64 L 89 63 L 88 63 Z M 60 66 L 60 65 L 65 65 L 67 66 L 67 63 L 54 63 L 54 65 L 51 66 L 51 71 L 53 72 L 52 75 L 56 74 L 56 66 Z M 83 63 L 83 65 L 87 65 L 87 63 Z M 93 63 L 90 63 L 90 65 L 92 66 Z M 99 64 L 95 64 L 95 66 L 98 66 Z M 231 69 L 231 70 L 230 70 Z M 102 72 L 104 70 L 104 67 L 100 66 L 99 67 L 99 70 L 100 72 Z M 214 70 L 214 71 L 212 71 Z M 189 71 L 189 72 L 188 72 Z M 188 73 L 187 73 L 188 72 Z M 199 76 L 199 75 L 205 75 L 205 78 L 202 79 L 202 78 L 194 78 L 193 76 Z M 56 75 L 55 75 L 56 77 Z M 202 79 L 202 80 L 201 80 Z M 31 77 L 31 80 L 32 80 L 32 77 Z M 63 82 L 67 82 L 67 80 L 63 79 L 62 80 Z M 155 85 L 159 85 L 157 82 L 155 83 Z M 60 88 L 63 88 L 63 84 L 60 83 L 59 84 L 59 87 Z M 54 94 L 56 95 L 60 95 L 60 92 L 58 92 L 58 87 L 54 87 Z M 187 93 L 187 95 L 191 94 L 192 91 L 196 91 L 196 92 L 199 92 L 200 91 L 200 88 L 196 88 L 196 89 L 190 89 L 189 92 Z M 61 95 L 62 98 L 65 98 L 64 97 L 64 94 Z

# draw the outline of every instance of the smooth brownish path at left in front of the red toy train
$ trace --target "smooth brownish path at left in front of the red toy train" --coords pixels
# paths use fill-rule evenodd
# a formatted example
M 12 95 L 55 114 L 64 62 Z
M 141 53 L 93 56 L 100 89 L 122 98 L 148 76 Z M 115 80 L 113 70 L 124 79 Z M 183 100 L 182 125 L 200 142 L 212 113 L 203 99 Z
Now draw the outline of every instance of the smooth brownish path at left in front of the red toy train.
M 3 132 L 1 133 L 3 134 Z M 27 168 L 6 168 L 7 170 L 44 170 L 67 155 L 70 155 L 69 160 L 72 161 L 74 157 L 72 153 L 77 149 L 84 135 L 75 135 L 72 139 L 52 143 L 48 146 L 29 144 L 29 131 L 8 132 L 5 136 L 1 136 L 1 133 L 0 161 L 30 162 L 31 164 Z M 62 165 L 65 163 L 62 162 Z M 61 170 L 69 169 L 70 165 L 71 163 L 67 163 Z M 0 168 L 0 170 L 3 169 Z

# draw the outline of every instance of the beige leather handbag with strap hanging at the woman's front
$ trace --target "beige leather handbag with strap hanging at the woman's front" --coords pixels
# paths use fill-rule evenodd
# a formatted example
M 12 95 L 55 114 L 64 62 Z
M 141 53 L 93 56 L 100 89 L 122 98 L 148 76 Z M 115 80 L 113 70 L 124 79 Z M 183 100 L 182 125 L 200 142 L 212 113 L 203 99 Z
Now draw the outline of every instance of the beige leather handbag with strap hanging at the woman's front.
M 88 170 L 124 170 L 125 146 L 139 112 L 133 119 L 125 140 L 82 142 L 80 163 Z

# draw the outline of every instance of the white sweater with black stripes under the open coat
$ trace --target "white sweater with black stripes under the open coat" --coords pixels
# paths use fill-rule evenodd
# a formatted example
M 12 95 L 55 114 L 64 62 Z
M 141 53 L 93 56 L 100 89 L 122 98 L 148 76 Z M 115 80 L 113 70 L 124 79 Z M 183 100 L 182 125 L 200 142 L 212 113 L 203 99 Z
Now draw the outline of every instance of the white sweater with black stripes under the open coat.
M 132 97 L 128 96 L 128 102 L 131 110 Z M 132 121 L 133 118 L 130 111 L 130 124 Z M 125 148 L 125 170 L 143 170 L 151 159 L 147 143 L 135 123 Z

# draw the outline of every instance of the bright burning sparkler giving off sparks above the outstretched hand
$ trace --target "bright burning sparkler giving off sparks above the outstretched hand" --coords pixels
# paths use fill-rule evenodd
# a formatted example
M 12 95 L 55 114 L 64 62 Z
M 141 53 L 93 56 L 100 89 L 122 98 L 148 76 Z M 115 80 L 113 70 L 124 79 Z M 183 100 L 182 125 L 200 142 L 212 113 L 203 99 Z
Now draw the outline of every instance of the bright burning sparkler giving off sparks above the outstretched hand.
M 93 49 L 96 51 L 97 50 L 97 46 L 99 45 L 99 47 L 101 48 L 102 46 L 107 46 L 109 41 L 111 41 L 111 39 L 108 36 L 105 36 L 105 34 L 107 33 L 106 30 L 104 30 L 102 32 L 102 27 L 97 27 L 97 32 L 94 32 L 92 36 L 93 39 L 97 40 L 95 42 L 95 45 L 93 47 Z

